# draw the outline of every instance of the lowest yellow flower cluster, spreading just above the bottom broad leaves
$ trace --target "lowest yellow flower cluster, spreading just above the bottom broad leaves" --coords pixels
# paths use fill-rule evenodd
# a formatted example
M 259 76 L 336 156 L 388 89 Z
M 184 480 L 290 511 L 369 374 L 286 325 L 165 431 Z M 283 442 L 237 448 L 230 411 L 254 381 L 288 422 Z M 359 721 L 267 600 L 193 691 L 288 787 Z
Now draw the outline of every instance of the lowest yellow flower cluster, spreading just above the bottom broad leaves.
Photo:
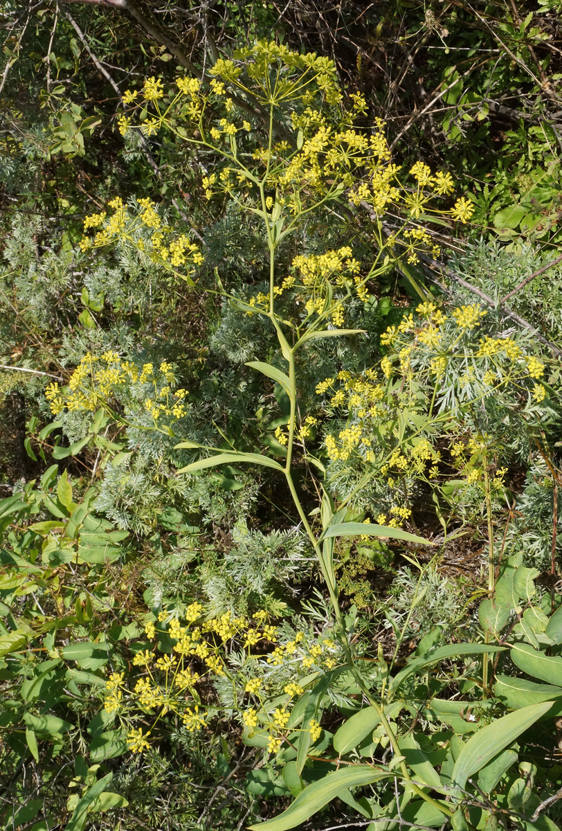
M 271 665 L 284 668 L 291 665 L 298 677 L 299 671 L 311 666 L 326 670 L 337 664 L 340 650 L 333 640 L 321 637 L 309 640 L 304 632 L 296 632 L 292 640 L 282 640 L 277 627 L 266 623 L 267 612 L 263 609 L 252 618 L 234 617 L 225 612 L 205 620 L 205 613 L 199 602 L 188 606 L 182 619 L 160 612 L 157 621 L 149 621 L 144 627 L 146 637 L 154 641 L 153 649 L 141 648 L 134 653 L 132 665 L 142 674 L 126 678 L 125 671 L 113 671 L 108 676 L 106 712 L 119 712 L 120 717 L 129 720 L 137 715 L 144 721 L 147 716 L 153 719 L 147 733 L 137 729 L 129 731 L 128 744 L 133 752 L 142 753 L 149 748 L 149 737 L 156 723 L 167 713 L 179 716 L 189 732 L 206 728 L 216 707 L 203 704 L 205 686 L 208 681 L 225 675 L 232 684 L 242 687 L 243 694 L 258 700 L 259 706 L 242 712 L 242 721 L 251 731 L 258 723 L 265 725 L 270 732 L 269 752 L 276 752 L 286 737 L 293 700 L 303 694 L 304 686 L 298 680 L 286 683 L 285 702 L 280 703 L 277 696 L 275 705 L 269 706 L 264 687 L 274 683 Z M 167 642 L 172 642 L 171 651 L 164 647 Z M 229 653 L 241 645 L 248 651 L 246 663 L 240 665 L 237 653 L 231 666 Z M 250 647 L 257 645 L 257 652 L 252 654 Z M 162 652 L 163 648 L 167 651 Z M 248 666 L 253 670 L 250 677 Z M 320 735 L 319 730 L 318 722 L 310 725 L 313 741 Z

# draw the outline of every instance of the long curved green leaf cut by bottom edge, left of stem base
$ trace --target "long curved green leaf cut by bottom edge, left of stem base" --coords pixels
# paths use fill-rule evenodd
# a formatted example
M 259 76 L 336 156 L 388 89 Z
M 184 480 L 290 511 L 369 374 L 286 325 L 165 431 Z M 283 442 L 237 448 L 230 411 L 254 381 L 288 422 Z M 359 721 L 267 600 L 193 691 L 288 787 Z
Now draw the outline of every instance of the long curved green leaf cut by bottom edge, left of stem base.
M 265 823 L 250 825 L 249 831 L 288 831 L 297 828 L 335 799 L 341 791 L 372 784 L 386 776 L 388 774 L 381 773 L 370 765 L 353 765 L 335 770 L 319 782 L 307 785 L 289 808 L 278 817 L 267 819 Z

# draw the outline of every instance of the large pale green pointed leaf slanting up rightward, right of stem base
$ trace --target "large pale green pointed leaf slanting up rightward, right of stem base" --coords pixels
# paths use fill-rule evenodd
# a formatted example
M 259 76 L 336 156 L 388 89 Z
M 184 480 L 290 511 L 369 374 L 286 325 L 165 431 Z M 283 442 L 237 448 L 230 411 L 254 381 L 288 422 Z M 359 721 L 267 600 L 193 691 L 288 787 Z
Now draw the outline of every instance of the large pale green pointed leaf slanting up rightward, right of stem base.
M 467 741 L 457 757 L 452 769 L 453 786 L 464 789 L 469 776 L 481 770 L 501 750 L 506 750 L 517 736 L 534 725 L 535 721 L 539 720 L 541 715 L 545 715 L 551 706 L 552 701 L 545 701 L 542 704 L 523 707 L 522 710 L 503 715 L 501 719 L 478 730 Z M 461 793 L 458 794 L 458 798 L 462 799 Z

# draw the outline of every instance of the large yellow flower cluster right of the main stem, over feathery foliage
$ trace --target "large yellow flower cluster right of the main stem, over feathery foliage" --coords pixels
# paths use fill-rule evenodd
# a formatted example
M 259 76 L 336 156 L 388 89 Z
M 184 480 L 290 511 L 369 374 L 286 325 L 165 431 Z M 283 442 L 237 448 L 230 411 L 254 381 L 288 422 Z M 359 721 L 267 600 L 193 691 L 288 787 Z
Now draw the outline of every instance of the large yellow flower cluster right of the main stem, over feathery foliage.
M 435 302 L 423 302 L 381 337 L 389 350 L 379 366 L 386 381 L 379 380 L 375 369 L 359 377 L 340 372 L 337 378 L 320 381 L 316 393 L 329 396 L 332 408 L 345 407 L 348 417 L 338 434 L 325 435 L 330 460 L 354 459 L 359 465 L 369 465 L 369 470 L 374 465 L 387 478 L 389 489 L 402 481 L 407 493 L 411 480 L 432 481 L 441 473 L 450 475 L 437 449 L 445 436 L 432 418 L 444 407 L 453 411 L 464 401 L 486 400 L 492 394 L 508 396 L 509 406 L 536 406 L 545 401 L 548 387 L 540 383 L 545 364 L 537 356 L 525 354 L 511 337 L 485 335 L 474 342 L 474 330 L 485 316 L 486 310 L 477 304 L 453 309 L 447 316 Z M 456 446 L 453 442 L 453 466 L 461 466 L 469 484 L 479 481 L 481 465 L 469 465 L 469 460 L 458 455 L 464 452 L 465 443 L 459 443 L 457 451 Z M 398 527 L 408 519 L 408 512 L 401 505 L 385 507 L 378 523 Z

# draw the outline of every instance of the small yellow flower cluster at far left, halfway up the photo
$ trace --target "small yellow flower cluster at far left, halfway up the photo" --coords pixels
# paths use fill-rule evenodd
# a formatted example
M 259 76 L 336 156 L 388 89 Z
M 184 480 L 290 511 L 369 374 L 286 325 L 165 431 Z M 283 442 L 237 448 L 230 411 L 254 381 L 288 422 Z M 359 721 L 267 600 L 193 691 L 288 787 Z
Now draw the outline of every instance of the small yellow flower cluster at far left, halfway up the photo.
M 151 363 L 139 367 L 132 361 L 121 361 L 117 352 L 104 352 L 100 357 L 86 352 L 67 386 L 51 383 L 45 397 L 51 402 L 53 416 L 65 410 L 93 413 L 100 407 L 111 412 L 111 401 L 126 398 L 131 388 L 137 387 L 145 409 L 156 423 L 161 416 L 179 420 L 187 412 L 188 393 L 183 389 L 172 391 L 174 383 L 172 366 L 167 361 L 162 361 L 158 368 Z M 150 386 L 151 397 L 145 397 L 143 385 Z

